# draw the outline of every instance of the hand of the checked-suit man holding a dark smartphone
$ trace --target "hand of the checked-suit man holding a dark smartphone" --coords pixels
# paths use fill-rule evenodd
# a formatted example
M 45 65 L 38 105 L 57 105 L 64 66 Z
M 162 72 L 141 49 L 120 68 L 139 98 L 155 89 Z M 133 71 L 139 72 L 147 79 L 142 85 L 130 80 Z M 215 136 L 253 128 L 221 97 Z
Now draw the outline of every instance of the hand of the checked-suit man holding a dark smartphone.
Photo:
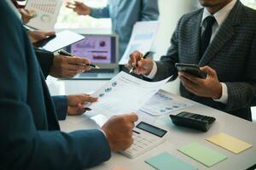
M 189 90 L 192 94 L 208 97 L 212 99 L 219 99 L 222 95 L 222 85 L 218 82 L 218 76 L 209 66 L 200 68 L 201 71 L 207 72 L 207 78 L 199 78 L 192 76 L 186 72 L 178 72 L 178 77 L 183 83 L 184 88 Z

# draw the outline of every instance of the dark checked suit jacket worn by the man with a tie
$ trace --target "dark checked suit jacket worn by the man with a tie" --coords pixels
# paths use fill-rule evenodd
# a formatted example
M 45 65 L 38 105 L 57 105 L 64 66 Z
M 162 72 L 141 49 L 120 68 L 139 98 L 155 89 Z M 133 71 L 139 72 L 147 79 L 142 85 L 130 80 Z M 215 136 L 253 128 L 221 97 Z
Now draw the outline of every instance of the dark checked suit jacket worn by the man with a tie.
M 203 9 L 199 9 L 179 20 L 172 35 L 172 46 L 157 62 L 154 81 L 173 74 L 177 77 L 174 67 L 177 62 L 209 65 L 217 71 L 218 80 L 227 85 L 227 105 L 191 94 L 182 85 L 181 95 L 252 120 L 250 106 L 256 104 L 256 12 L 237 1 L 206 53 L 199 59 L 202 14 Z

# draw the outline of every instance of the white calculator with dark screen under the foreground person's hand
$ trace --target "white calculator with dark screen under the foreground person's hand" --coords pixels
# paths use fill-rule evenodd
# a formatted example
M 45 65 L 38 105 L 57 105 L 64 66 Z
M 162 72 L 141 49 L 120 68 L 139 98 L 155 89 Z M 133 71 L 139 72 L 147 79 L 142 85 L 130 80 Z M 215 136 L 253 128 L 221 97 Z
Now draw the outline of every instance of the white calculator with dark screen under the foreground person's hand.
M 133 144 L 127 150 L 120 153 L 134 158 L 164 142 L 166 130 L 154 127 L 146 122 L 140 122 L 133 129 Z

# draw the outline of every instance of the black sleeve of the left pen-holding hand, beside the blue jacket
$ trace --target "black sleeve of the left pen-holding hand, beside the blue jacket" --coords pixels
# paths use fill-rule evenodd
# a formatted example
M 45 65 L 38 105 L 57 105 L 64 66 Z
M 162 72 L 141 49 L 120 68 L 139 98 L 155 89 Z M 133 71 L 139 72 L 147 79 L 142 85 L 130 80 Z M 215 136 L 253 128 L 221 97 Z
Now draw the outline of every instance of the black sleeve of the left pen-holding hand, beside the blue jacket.
M 36 52 L 41 70 L 43 71 L 44 77 L 46 79 L 46 77 L 49 76 L 49 71 L 53 63 L 54 54 L 47 51 L 40 50 L 40 49 L 35 49 L 35 52 Z

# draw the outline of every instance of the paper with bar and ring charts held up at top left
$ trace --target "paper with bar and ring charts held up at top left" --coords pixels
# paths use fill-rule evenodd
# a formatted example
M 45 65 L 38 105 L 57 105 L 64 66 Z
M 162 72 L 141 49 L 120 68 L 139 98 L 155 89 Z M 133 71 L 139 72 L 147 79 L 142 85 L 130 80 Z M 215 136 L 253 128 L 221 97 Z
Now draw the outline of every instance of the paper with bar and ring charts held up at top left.
M 35 11 L 35 17 L 26 26 L 44 31 L 53 31 L 61 4 L 62 0 L 28 0 L 25 8 Z

